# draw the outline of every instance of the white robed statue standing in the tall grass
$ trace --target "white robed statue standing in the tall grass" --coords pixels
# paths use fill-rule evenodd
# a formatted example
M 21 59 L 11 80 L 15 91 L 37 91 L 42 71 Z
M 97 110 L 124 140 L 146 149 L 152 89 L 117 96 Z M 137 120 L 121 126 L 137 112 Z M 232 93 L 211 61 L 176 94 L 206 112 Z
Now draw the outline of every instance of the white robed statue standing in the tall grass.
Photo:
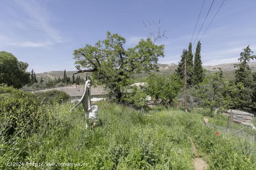
M 90 80 L 85 82 L 85 90 L 84 90 L 84 94 L 82 95 L 81 100 L 72 108 L 70 109 L 70 112 L 72 112 L 76 107 L 79 106 L 80 103 L 82 103 L 83 106 L 83 110 L 85 111 L 85 118 L 88 119 L 93 119 L 95 122 L 98 119 L 98 106 L 93 105 L 91 103 L 91 99 L 90 99 Z M 94 126 L 95 123 L 94 122 Z M 88 128 L 88 124 L 86 123 L 86 128 Z

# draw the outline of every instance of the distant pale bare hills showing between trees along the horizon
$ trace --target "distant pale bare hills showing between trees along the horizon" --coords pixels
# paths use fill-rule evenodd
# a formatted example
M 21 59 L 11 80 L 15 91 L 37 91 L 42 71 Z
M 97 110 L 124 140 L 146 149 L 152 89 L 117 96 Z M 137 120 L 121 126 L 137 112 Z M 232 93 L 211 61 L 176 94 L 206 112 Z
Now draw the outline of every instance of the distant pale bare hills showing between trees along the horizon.
M 235 70 L 234 68 L 234 64 L 235 63 L 228 63 L 228 64 L 218 64 L 218 65 L 214 65 L 214 66 L 203 66 L 204 69 L 207 69 L 208 71 L 215 71 L 216 69 L 214 68 L 221 68 L 224 72 L 224 75 L 228 78 L 231 79 L 233 77 L 233 71 Z M 157 64 L 159 67 L 159 72 L 157 72 L 156 74 L 170 74 L 173 73 L 175 71 L 175 69 L 177 68 L 177 65 L 174 63 L 171 64 Z M 251 62 L 249 63 L 250 69 L 252 69 L 253 72 L 256 71 L 256 62 Z M 74 73 L 76 71 L 66 71 L 67 76 L 72 76 L 72 73 Z M 64 71 L 48 71 L 48 72 L 44 72 L 44 73 L 37 73 L 36 77 L 38 80 L 40 80 L 41 77 L 43 77 L 44 80 L 47 79 L 54 79 L 54 78 L 58 78 L 58 77 L 63 77 Z M 81 78 L 85 78 L 86 75 L 91 75 L 91 73 L 80 73 L 77 74 L 75 76 L 80 76 Z M 135 75 L 135 79 L 137 80 L 143 80 L 144 77 L 146 77 L 147 74 L 142 73 L 140 75 Z

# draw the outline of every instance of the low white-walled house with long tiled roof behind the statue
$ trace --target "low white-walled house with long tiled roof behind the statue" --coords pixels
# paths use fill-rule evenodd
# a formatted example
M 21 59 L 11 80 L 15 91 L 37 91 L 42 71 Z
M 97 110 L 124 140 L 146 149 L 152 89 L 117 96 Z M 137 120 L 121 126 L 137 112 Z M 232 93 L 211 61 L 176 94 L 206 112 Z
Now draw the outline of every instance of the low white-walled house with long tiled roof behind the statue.
M 46 89 L 39 89 L 39 90 L 34 90 L 34 93 L 37 92 L 46 92 L 46 91 L 51 91 L 51 90 L 60 90 L 65 93 L 67 93 L 71 97 L 71 102 L 74 101 L 79 101 L 84 93 L 85 88 L 84 87 L 78 87 L 78 88 L 73 88 L 73 87 L 58 87 L 58 88 L 46 88 Z M 106 91 L 102 87 L 98 88 L 90 88 L 90 96 L 91 96 L 91 101 L 102 101 L 106 98 Z

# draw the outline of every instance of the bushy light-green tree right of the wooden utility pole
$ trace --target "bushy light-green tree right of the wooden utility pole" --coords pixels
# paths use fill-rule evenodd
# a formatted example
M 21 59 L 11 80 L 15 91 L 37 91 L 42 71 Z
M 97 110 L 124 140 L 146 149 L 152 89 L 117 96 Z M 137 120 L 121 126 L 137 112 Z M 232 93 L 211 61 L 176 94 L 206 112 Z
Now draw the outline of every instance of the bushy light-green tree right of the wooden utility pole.
M 214 108 L 219 110 L 230 109 L 241 103 L 239 94 L 244 92 L 242 83 L 228 84 L 221 69 L 215 73 L 207 74 L 203 81 L 192 89 L 196 105 L 209 108 L 210 113 Z

